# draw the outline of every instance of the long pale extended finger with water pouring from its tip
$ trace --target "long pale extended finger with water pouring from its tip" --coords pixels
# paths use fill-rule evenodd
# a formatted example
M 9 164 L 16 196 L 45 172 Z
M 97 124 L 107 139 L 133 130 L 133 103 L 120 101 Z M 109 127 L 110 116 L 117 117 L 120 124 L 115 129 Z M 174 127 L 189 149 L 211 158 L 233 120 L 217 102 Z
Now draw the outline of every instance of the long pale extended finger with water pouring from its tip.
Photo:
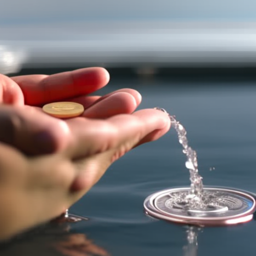
M 73 118 L 67 120 L 72 138 L 66 149 L 71 158 L 120 148 L 120 156 L 155 132 L 157 139 L 170 127 L 166 113 L 155 109 L 143 109 L 133 114 L 115 115 L 105 120 Z M 144 142 L 149 140 L 144 140 Z

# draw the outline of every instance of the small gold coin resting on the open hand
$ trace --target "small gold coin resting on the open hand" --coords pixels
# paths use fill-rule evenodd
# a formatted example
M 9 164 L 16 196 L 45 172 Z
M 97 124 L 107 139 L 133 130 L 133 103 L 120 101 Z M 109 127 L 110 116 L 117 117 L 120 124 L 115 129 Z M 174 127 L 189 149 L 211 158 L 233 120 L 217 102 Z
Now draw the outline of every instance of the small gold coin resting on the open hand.
M 44 105 L 42 110 L 54 117 L 58 118 L 70 118 L 79 116 L 83 111 L 83 105 L 75 102 L 52 102 Z

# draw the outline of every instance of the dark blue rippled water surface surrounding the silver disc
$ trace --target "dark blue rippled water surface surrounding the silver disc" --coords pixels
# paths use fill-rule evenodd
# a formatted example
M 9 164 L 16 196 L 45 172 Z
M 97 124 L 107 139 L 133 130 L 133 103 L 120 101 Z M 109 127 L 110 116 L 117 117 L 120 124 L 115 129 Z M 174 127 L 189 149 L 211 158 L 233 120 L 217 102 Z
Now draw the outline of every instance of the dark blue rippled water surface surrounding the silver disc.
M 204 184 L 256 193 L 255 81 L 123 82 L 116 78 L 107 90 L 119 87 L 138 89 L 142 94 L 141 108 L 160 106 L 176 115 L 197 151 Z M 144 214 L 142 204 L 148 194 L 189 185 L 184 161 L 174 130 L 130 151 L 71 207 L 70 212 L 89 220 L 71 225 L 70 231 L 86 234 L 111 255 L 255 255 L 255 220 L 236 226 L 202 228 L 198 232 L 197 254 L 184 254 L 187 227 Z M 211 167 L 215 169 L 210 171 Z M 58 254 L 51 251 L 47 255 Z

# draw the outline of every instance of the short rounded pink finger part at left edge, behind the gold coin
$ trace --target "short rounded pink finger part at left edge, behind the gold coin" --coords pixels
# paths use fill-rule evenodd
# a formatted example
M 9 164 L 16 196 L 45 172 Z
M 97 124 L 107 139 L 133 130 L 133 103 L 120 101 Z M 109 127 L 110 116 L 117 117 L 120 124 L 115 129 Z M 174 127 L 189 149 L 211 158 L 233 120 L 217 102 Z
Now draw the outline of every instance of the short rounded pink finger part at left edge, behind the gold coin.
M 0 103 L 24 104 L 24 97 L 19 86 L 3 74 L 0 74 Z

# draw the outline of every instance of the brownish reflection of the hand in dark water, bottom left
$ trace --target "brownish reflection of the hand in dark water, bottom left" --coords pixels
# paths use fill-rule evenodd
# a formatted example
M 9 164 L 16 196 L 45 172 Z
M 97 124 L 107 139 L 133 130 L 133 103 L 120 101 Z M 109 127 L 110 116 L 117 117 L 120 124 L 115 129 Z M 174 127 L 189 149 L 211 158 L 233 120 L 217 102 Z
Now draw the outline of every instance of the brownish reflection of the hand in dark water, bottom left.
M 60 219 L 59 219 L 60 220 Z M 36 227 L 0 244 L 1 256 L 108 256 L 83 233 L 74 233 L 62 221 Z

